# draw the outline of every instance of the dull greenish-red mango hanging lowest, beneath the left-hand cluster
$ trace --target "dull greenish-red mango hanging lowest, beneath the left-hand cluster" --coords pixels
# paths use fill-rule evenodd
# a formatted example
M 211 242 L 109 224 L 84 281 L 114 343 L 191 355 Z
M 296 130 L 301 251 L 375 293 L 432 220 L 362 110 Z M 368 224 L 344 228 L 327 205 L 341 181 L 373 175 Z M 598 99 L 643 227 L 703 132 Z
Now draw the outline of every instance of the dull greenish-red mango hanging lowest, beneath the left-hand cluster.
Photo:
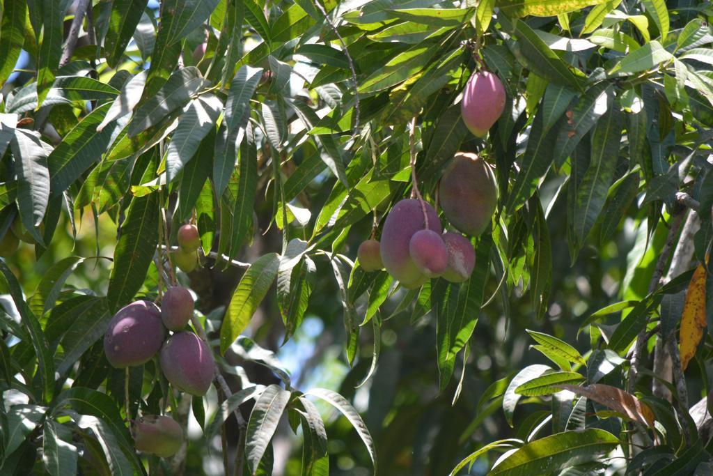
M 134 447 L 162 458 L 171 457 L 183 444 L 183 428 L 173 418 L 144 415 L 133 425 Z

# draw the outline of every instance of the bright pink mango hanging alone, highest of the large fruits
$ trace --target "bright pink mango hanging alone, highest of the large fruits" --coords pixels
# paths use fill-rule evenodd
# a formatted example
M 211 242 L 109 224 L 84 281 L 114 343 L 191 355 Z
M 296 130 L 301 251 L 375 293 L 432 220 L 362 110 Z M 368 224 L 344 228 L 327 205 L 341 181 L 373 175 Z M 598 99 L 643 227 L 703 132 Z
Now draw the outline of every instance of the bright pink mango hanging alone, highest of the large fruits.
M 463 90 L 461 116 L 473 135 L 484 137 L 503 113 L 505 88 L 490 71 L 474 73 Z

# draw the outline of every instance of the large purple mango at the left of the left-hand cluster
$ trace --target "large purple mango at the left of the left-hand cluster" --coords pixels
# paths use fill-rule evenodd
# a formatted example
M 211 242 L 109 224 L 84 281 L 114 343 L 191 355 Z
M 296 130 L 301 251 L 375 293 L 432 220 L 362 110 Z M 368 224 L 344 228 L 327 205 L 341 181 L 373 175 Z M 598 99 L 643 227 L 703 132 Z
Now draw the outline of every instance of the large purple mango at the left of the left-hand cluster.
M 154 303 L 139 300 L 121 308 L 104 335 L 106 360 L 115 368 L 142 365 L 161 348 L 166 330 Z

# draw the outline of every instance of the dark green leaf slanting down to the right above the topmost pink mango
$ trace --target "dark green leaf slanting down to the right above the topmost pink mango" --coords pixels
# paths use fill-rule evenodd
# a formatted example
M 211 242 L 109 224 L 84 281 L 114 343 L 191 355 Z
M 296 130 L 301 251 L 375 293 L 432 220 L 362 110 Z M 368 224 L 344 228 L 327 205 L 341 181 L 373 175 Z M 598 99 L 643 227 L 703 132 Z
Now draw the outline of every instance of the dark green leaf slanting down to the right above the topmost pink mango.
M 570 66 L 545 44 L 535 30 L 521 20 L 513 19 L 511 22 L 502 17 L 500 21 L 503 29 L 518 37 L 519 41 L 509 43 L 508 47 L 523 66 L 560 86 L 568 86 L 577 91 L 582 89 L 582 80 L 573 74 Z

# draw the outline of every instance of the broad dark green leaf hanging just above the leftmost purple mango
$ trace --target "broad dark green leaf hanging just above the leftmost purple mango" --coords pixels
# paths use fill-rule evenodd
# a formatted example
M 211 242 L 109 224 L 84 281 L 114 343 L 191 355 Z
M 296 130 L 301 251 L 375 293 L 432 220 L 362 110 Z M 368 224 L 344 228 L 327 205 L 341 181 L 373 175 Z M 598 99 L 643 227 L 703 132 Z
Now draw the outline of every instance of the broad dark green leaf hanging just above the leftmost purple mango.
M 158 194 L 135 197 L 120 228 L 109 278 L 109 309 L 116 312 L 133 299 L 153 260 L 158 244 Z

